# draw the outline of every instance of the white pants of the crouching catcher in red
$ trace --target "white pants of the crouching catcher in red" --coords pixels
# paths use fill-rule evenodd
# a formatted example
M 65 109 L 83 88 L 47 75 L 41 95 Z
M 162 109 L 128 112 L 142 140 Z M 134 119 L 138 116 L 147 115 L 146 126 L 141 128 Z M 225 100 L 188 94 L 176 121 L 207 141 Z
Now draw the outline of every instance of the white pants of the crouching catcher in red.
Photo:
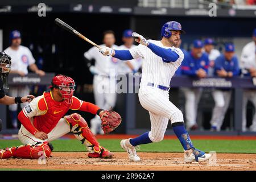
M 18 137 L 20 142 L 22 142 L 23 144 L 35 144 L 36 142 L 51 142 L 64 136 L 65 134 L 68 134 L 69 132 L 69 123 L 64 118 L 61 118 L 57 125 L 53 128 L 53 130 L 47 134 L 48 138 L 46 140 L 36 138 L 23 125 L 21 125 L 19 129 Z

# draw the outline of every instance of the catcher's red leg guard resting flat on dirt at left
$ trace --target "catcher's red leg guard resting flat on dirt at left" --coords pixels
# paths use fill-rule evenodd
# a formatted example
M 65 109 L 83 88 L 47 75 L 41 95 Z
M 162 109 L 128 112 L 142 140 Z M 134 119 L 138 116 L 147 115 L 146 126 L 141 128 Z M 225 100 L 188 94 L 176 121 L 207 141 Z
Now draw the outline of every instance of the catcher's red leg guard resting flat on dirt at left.
M 49 158 L 53 146 L 49 142 L 38 142 L 36 144 L 27 144 L 26 146 L 11 147 L 6 150 L 1 150 L 1 158 L 23 158 L 23 159 L 39 159 Z

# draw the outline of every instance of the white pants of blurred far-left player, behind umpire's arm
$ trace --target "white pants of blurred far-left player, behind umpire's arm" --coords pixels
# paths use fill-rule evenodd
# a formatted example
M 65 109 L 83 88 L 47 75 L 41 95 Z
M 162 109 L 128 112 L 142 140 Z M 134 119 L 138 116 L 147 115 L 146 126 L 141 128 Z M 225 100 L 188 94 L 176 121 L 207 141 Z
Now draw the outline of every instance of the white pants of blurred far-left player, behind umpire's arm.
M 8 95 L 10 97 L 23 97 L 30 94 L 30 88 L 28 86 L 10 86 Z M 20 107 L 25 107 L 27 105 L 27 102 L 20 104 Z M 11 104 L 9 105 L 10 111 L 16 111 L 18 109 L 18 105 Z

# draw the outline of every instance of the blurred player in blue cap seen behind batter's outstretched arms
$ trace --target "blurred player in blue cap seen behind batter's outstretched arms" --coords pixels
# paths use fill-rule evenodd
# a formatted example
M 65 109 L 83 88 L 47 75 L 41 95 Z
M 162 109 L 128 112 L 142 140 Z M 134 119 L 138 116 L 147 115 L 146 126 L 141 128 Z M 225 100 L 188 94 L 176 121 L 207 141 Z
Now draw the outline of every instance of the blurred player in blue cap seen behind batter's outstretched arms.
M 123 31 L 123 45 L 119 46 L 119 49 L 122 50 L 128 50 L 130 48 L 135 47 L 134 43 L 134 38 L 131 36 L 133 34 L 133 30 L 125 30 Z M 120 61 L 119 63 L 119 68 L 118 72 L 121 73 L 136 73 L 139 68 L 142 66 L 142 59 L 133 59 L 129 61 Z

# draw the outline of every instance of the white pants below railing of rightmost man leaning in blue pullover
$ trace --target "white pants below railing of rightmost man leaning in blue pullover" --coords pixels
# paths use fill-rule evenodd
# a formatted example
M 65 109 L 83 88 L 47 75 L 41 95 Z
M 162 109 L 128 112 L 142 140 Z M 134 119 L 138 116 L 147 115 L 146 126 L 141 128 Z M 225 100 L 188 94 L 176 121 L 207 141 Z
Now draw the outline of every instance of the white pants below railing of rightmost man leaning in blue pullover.
M 213 108 L 210 124 L 217 127 L 217 130 L 220 130 L 221 125 L 224 121 L 226 110 L 228 110 L 229 107 L 232 90 L 213 90 L 212 96 L 215 105 Z

